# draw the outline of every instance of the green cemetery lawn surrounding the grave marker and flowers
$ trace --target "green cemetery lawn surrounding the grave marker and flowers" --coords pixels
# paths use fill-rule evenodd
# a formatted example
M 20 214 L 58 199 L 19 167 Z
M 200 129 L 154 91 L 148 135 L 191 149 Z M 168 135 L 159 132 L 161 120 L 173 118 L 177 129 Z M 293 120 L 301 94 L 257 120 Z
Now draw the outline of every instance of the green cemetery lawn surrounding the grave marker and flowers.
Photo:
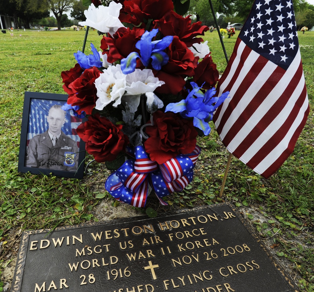
M 54 228 L 97 221 L 95 210 L 106 202 L 106 210 L 120 208 L 105 191 L 108 171 L 92 163 L 84 179 L 18 173 L 20 129 L 25 91 L 64 93 L 61 71 L 72 68 L 73 53 L 82 50 L 84 31 L 14 31 L 0 35 L 0 292 L 11 288 L 20 235 L 23 230 Z M 230 57 L 236 36 L 225 38 Z M 90 30 L 89 43 L 100 46 L 101 37 Z M 217 31 L 207 32 L 219 73 L 226 61 Z M 300 51 L 311 112 L 294 152 L 268 180 L 236 158 L 232 159 L 224 189 L 228 152 L 211 123 L 209 136 L 199 139 L 202 153 L 194 182 L 183 192 L 167 197 L 161 207 L 150 196 L 146 210 L 154 216 L 173 209 L 231 202 L 251 223 L 255 232 L 286 269 L 300 291 L 314 291 L 314 32 L 299 32 Z M 86 163 L 92 157 L 87 155 Z M 10 278 L 11 277 L 11 278 Z

